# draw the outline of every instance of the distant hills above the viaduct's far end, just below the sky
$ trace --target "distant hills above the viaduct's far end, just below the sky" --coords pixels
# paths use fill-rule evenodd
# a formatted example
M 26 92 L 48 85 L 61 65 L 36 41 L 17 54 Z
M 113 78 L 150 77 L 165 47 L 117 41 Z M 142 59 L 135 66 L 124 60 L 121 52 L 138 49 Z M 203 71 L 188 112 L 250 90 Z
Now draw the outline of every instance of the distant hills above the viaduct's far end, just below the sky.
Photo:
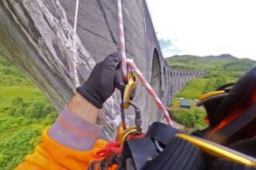
M 178 70 L 202 70 L 209 73 L 218 71 L 237 78 L 256 63 L 252 59 L 238 59 L 230 54 L 220 56 L 176 55 L 166 58 L 166 61 Z

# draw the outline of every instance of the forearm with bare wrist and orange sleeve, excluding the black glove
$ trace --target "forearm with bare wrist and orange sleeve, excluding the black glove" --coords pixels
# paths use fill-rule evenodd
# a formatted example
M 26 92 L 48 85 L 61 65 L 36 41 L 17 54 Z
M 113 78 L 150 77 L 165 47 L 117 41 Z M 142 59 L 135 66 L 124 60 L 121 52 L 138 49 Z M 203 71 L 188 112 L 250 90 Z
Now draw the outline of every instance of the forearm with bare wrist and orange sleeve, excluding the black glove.
M 76 93 L 53 126 L 43 131 L 42 144 L 17 169 L 87 169 L 99 160 L 95 151 L 107 143 L 98 140 L 102 130 L 94 124 L 98 114 L 99 108 Z

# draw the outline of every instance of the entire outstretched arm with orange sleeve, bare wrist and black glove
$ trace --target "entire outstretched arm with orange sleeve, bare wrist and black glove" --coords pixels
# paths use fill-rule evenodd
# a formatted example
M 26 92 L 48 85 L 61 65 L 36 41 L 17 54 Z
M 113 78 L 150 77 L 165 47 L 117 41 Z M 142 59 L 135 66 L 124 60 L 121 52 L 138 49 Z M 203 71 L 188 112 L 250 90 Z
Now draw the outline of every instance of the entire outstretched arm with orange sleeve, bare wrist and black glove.
M 42 144 L 17 169 L 88 169 L 92 161 L 101 159 L 94 154 L 107 141 L 98 139 L 102 126 L 95 122 L 99 108 L 119 83 L 118 60 L 117 54 L 111 54 L 96 64 L 53 126 L 43 131 Z

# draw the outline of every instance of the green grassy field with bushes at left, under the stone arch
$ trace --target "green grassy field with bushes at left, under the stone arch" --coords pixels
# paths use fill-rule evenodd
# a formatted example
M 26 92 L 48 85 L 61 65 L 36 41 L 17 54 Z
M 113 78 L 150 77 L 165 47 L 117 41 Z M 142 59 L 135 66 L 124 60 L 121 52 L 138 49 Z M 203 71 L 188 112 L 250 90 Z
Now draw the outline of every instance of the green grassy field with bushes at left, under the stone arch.
M 0 56 L 0 169 L 14 169 L 57 113 L 44 94 Z

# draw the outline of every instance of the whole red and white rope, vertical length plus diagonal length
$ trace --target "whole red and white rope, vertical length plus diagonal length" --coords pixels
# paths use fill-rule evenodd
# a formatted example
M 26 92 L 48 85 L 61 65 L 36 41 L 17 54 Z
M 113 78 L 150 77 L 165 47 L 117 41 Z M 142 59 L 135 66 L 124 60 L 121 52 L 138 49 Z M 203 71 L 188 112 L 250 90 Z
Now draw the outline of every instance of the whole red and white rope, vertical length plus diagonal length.
M 160 108 L 162 113 L 164 114 L 164 118 L 167 121 L 167 124 L 174 127 L 171 121 L 171 117 L 168 114 L 168 110 L 164 107 L 164 104 L 162 104 L 161 100 L 157 97 L 157 94 L 154 92 L 152 87 L 150 87 L 150 84 L 147 83 L 147 80 L 144 78 L 140 70 L 137 68 L 137 66 L 133 63 L 133 59 L 126 59 L 126 46 L 124 42 L 124 32 L 123 32 L 123 12 L 122 12 L 122 2 L 121 0 L 117 0 L 118 5 L 118 20 L 119 20 L 119 38 L 120 38 L 120 50 L 121 50 L 121 60 L 122 60 L 122 75 L 123 79 L 127 81 L 127 71 L 128 66 L 137 74 L 140 81 L 144 84 L 144 87 L 146 87 L 148 93 L 150 93 L 150 96 L 154 98 L 155 103 Z M 127 66 L 128 64 L 128 66 Z

